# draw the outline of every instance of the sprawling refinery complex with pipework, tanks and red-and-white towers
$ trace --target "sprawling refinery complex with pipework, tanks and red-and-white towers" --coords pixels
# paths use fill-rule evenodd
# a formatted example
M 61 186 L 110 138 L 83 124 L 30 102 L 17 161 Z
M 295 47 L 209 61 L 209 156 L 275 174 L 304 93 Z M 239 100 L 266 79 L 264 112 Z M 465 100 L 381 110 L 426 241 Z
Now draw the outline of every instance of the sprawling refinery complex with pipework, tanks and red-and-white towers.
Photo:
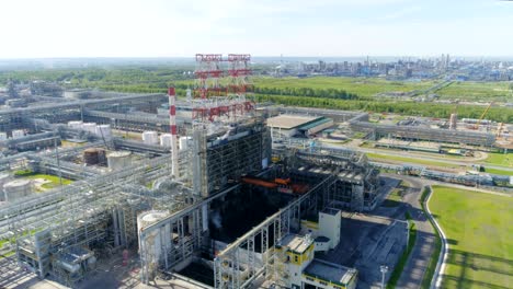
M 73 89 L 0 109 L 1 288 L 372 288 L 379 266 L 392 268 L 408 246 L 408 221 L 379 217 L 403 187 L 394 174 L 511 182 L 333 144 L 355 134 L 408 150 L 497 144 L 456 115 L 437 127 L 390 125 L 362 112 L 259 104 L 250 55 L 195 60 L 191 89 Z

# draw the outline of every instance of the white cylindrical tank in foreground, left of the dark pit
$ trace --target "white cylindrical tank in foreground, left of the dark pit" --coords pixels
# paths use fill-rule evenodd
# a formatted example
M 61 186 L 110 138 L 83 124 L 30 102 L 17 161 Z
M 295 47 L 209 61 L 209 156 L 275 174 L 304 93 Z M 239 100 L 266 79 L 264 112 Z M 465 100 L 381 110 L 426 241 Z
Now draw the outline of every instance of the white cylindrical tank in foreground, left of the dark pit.
M 144 228 L 155 223 L 168 216 L 166 211 L 150 210 L 141 212 L 137 216 L 137 232 L 140 232 Z M 144 243 L 142 243 L 144 242 Z M 171 230 L 169 223 L 161 227 L 159 230 L 152 230 L 146 235 L 145 240 L 139 239 L 139 248 L 144 247 L 146 253 L 146 262 L 148 264 L 158 264 L 161 258 L 162 247 L 169 251 L 171 247 Z M 153 267 L 153 266 L 149 266 Z M 155 266 L 157 268 L 158 266 Z

